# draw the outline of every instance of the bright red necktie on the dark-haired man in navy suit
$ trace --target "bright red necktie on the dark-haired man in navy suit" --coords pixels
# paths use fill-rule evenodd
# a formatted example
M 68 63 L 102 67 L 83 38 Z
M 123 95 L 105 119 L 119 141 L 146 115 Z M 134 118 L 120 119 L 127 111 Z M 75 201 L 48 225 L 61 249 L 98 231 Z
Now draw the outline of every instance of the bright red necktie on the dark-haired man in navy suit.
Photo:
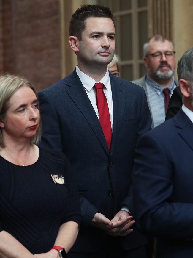
M 110 150 L 112 129 L 110 123 L 109 107 L 105 93 L 103 91 L 104 84 L 101 82 L 97 82 L 95 83 L 94 88 L 96 90 L 96 103 L 99 111 L 99 122 L 105 135 L 108 149 Z

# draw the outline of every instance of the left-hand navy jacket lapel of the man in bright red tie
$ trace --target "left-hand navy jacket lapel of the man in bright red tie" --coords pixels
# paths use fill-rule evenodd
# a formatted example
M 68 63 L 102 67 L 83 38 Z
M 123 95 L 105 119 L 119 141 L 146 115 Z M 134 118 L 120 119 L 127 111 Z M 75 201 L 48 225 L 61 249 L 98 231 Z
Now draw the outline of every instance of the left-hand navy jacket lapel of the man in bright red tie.
M 66 90 L 67 94 L 76 104 L 80 112 L 83 114 L 83 116 L 91 126 L 95 135 L 99 139 L 103 148 L 105 149 L 107 154 L 109 154 L 107 142 L 102 132 L 99 119 L 97 118 L 94 108 L 75 70 L 70 76 L 67 77 L 66 84 L 69 86 L 69 88 Z

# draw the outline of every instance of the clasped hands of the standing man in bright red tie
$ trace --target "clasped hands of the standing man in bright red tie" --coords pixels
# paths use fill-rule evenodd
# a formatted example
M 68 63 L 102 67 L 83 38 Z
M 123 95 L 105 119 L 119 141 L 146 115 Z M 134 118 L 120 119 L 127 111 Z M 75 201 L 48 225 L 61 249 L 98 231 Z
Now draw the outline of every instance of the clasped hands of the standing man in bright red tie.
M 97 212 L 92 219 L 91 225 L 103 229 L 111 236 L 126 236 L 133 232 L 131 226 L 135 221 L 131 221 L 131 219 L 132 216 L 125 210 L 120 210 L 112 220 Z

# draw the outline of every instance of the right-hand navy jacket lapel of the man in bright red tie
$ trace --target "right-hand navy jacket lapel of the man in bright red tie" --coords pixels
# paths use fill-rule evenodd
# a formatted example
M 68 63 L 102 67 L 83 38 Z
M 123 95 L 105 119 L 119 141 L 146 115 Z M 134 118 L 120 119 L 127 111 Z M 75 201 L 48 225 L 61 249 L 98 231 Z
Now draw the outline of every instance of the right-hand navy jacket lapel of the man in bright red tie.
M 123 118 L 126 96 L 124 94 L 124 87 L 122 86 L 121 81 L 110 73 L 109 76 L 113 98 L 113 134 L 110 147 L 111 155 L 115 149 L 116 139 L 119 133 L 119 126 Z

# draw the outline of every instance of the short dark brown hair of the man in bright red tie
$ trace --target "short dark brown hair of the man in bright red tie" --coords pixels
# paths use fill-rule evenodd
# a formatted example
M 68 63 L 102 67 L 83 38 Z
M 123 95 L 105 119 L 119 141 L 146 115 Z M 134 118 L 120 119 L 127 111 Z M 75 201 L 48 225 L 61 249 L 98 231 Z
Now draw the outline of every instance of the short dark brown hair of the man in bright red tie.
M 86 19 L 90 17 L 104 17 L 113 21 L 113 13 L 108 7 L 98 4 L 81 5 L 81 7 L 73 13 L 70 19 L 70 36 L 76 36 L 79 40 L 81 40 L 82 32 L 86 26 Z

